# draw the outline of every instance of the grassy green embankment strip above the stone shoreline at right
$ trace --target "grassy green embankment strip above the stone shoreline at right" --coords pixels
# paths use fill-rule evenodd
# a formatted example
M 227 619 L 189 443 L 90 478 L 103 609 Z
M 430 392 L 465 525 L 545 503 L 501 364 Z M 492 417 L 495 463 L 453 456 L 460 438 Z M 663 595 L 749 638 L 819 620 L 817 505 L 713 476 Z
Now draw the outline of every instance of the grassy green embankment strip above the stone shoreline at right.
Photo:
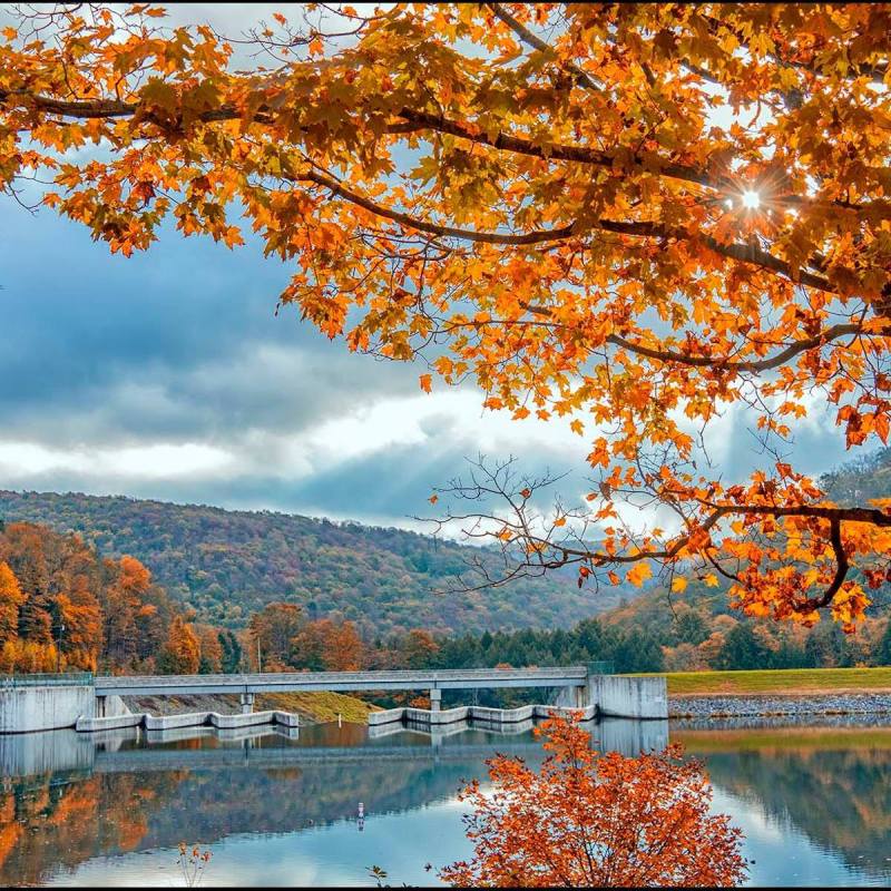
M 787 668 L 764 672 L 678 672 L 666 675 L 669 696 L 724 693 L 839 693 L 891 691 L 891 667 Z

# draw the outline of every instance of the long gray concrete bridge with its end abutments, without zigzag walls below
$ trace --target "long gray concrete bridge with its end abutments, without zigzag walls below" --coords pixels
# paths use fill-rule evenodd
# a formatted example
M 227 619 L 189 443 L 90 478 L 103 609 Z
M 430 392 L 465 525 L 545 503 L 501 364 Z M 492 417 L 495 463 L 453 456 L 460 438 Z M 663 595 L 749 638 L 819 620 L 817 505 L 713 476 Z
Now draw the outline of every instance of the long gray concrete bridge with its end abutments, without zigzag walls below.
M 253 712 L 257 693 L 427 691 L 430 696 L 430 712 L 437 713 L 440 712 L 443 689 L 506 687 L 557 688 L 559 693 L 555 705 L 587 708 L 597 715 L 637 719 L 666 718 L 668 715 L 664 677 L 599 675 L 589 672 L 587 666 L 242 675 L 115 675 L 95 678 L 91 675 L 19 675 L 0 678 L 0 734 L 71 727 L 78 718 L 110 718 L 129 714 L 119 698 L 121 696 L 238 694 L 242 712 L 247 714 Z M 442 718 L 446 718 L 444 714 Z

